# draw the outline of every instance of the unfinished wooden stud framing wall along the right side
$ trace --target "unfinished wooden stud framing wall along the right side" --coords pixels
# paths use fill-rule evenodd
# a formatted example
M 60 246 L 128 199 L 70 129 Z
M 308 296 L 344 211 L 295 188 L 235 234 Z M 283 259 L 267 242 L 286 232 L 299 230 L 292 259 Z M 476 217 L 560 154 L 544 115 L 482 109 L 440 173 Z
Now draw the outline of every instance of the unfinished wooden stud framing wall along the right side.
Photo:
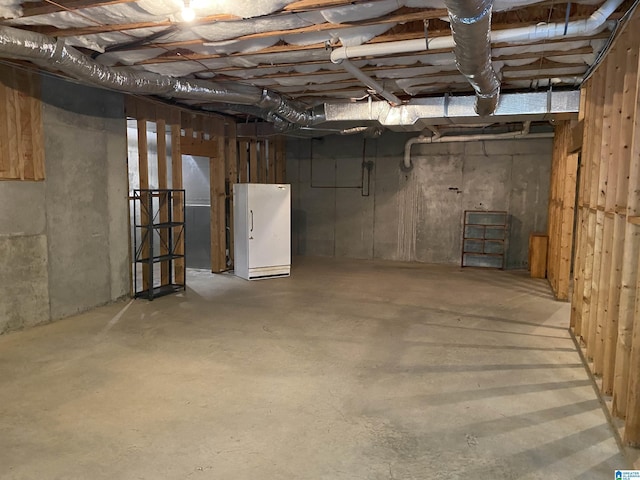
M 613 415 L 625 419 L 624 441 L 633 446 L 640 446 L 639 50 L 636 11 L 583 87 L 571 316 L 586 357 L 593 359 L 593 373 L 601 375 L 603 394 L 613 396 Z M 579 147 L 580 142 L 574 138 L 570 144 Z M 558 238 L 550 241 L 561 243 L 562 222 L 553 217 L 557 193 L 552 185 L 549 224 Z M 557 258 L 554 252 L 553 261 Z

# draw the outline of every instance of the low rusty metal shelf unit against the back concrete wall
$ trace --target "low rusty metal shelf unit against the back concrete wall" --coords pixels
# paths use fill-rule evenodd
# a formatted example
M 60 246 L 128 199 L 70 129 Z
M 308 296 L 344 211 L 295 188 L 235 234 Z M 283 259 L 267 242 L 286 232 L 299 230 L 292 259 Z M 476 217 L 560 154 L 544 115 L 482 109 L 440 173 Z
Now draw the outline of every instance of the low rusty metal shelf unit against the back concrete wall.
M 504 269 L 507 212 L 466 210 L 462 238 L 462 266 Z

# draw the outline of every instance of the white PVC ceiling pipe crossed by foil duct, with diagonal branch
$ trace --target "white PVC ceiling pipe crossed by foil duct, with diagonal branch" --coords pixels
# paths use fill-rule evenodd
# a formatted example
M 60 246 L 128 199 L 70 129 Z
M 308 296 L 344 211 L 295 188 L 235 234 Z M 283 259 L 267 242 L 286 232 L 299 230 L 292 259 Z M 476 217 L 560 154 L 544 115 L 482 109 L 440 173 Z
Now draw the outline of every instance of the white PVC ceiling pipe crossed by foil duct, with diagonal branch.
M 607 22 L 609 16 L 616 11 L 624 0 L 606 0 L 598 10 L 584 20 L 575 20 L 568 23 L 546 23 L 532 25 L 529 27 L 509 28 L 506 30 L 497 30 L 491 32 L 492 43 L 530 43 L 540 40 L 550 40 L 562 37 L 578 37 L 582 35 L 591 35 L 599 33 L 604 28 L 613 28 L 613 22 Z M 566 33 L 565 33 L 566 29 Z M 366 45 L 357 45 L 353 47 L 340 47 L 331 52 L 331 61 L 333 63 L 343 63 L 345 60 L 354 57 L 366 56 L 382 56 L 396 55 L 403 53 L 424 52 L 427 50 L 445 50 L 452 49 L 455 46 L 452 36 L 435 37 L 429 40 L 418 38 L 415 40 L 403 40 L 399 42 L 372 43 Z M 367 76 L 355 65 L 351 64 L 348 70 L 352 75 L 363 81 L 371 88 L 377 83 L 371 77 Z M 355 73 L 355 72 L 358 73 Z M 364 80 L 367 80 L 366 82 Z M 384 98 L 389 100 L 389 96 L 398 98 L 393 93 L 385 90 L 382 85 L 378 84 L 380 89 L 375 90 Z M 389 100 L 391 101 L 391 100 Z M 393 101 L 391 101 L 393 103 Z

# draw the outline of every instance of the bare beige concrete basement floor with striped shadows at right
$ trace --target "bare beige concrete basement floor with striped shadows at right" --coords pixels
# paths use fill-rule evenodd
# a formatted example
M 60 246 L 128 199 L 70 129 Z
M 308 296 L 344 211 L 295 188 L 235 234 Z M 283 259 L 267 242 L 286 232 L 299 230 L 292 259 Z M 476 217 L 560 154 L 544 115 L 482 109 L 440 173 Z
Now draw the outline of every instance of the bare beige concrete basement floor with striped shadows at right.
M 0 337 L 2 479 L 607 479 L 626 467 L 523 273 L 301 258 Z M 124 307 L 124 308 L 123 308 Z

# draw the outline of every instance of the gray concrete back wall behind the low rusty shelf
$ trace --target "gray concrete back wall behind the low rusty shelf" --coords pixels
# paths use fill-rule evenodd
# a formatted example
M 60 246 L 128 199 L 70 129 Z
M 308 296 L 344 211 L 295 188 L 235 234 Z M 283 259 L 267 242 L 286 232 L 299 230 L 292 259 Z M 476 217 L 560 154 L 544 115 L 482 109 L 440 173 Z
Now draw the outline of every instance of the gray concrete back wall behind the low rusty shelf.
M 457 264 L 463 212 L 506 210 L 507 267 L 526 267 L 529 233 L 547 228 L 552 140 L 415 145 L 403 172 L 412 136 L 289 139 L 294 254 Z

